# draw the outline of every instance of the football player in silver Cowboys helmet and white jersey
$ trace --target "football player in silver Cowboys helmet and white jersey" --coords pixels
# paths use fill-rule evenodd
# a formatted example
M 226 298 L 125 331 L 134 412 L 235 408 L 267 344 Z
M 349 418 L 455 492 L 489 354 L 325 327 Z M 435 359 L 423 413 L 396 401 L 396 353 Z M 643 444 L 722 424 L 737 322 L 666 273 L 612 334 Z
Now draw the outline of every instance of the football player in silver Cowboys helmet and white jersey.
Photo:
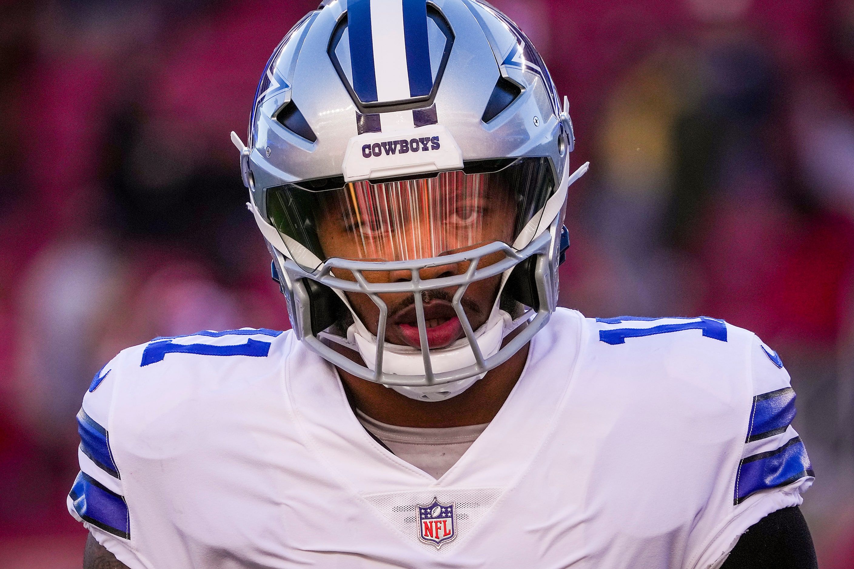
M 232 133 L 293 329 L 97 374 L 85 566 L 816 566 L 775 351 L 557 308 L 567 112 L 487 3 L 306 15 Z

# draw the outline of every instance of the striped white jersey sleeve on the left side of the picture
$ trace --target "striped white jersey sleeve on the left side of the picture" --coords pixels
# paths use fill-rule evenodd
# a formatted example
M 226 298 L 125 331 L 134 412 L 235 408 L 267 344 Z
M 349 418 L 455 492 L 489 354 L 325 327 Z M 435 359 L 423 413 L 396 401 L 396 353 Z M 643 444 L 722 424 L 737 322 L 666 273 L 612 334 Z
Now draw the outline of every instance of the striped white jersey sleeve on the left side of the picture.
M 131 569 L 149 569 L 132 548 L 131 515 L 114 460 L 110 439 L 113 396 L 121 375 L 124 352 L 95 374 L 77 414 L 80 472 L 67 497 L 68 512 L 82 522 L 98 543 Z

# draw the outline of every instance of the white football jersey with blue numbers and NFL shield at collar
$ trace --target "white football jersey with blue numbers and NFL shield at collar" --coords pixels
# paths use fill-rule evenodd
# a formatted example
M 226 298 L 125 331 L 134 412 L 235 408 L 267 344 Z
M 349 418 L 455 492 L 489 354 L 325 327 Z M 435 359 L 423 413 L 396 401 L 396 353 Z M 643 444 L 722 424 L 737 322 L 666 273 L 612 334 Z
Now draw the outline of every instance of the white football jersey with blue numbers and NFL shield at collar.
M 201 332 L 97 374 L 68 508 L 132 569 L 718 566 L 812 482 L 794 412 L 746 330 L 558 309 L 434 479 L 290 332 Z

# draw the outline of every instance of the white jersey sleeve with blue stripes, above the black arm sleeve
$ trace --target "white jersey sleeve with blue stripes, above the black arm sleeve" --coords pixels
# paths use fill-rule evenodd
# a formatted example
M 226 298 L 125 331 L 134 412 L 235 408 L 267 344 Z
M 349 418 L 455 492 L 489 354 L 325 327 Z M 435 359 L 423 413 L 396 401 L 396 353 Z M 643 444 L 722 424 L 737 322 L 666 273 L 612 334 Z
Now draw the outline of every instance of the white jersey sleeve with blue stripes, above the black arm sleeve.
M 697 567 L 719 567 L 749 527 L 768 514 L 799 506 L 815 474 L 792 427 L 795 392 L 781 358 L 755 335 L 752 404 L 735 474 L 732 510 Z

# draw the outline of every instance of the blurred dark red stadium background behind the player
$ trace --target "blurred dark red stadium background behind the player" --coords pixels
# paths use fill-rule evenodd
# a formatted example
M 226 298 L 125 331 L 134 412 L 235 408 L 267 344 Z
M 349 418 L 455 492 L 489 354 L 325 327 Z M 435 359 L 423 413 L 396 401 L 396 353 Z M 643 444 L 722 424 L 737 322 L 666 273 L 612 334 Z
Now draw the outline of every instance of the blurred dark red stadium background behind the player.
M 120 349 L 288 328 L 237 152 L 314 2 L 0 0 L 0 566 L 79 567 L 73 416 Z M 561 304 L 705 314 L 774 347 L 854 567 L 854 0 L 500 0 L 570 97 Z

